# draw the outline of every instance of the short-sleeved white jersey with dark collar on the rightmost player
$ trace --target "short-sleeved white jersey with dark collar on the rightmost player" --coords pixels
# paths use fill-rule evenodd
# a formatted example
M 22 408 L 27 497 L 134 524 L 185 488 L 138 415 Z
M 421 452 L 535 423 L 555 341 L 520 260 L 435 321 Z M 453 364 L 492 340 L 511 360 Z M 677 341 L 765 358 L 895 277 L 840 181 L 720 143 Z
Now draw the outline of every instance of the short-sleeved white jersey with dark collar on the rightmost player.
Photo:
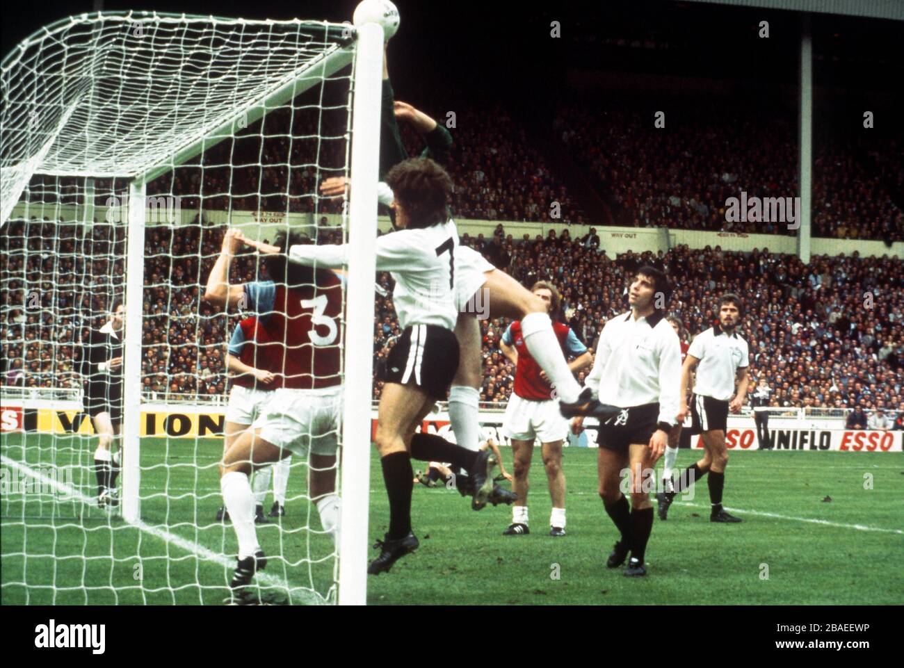
M 735 393 L 738 370 L 749 364 L 747 342 L 737 333 L 725 334 L 716 325 L 697 334 L 687 353 L 700 360 L 693 393 L 720 401 L 730 400 Z

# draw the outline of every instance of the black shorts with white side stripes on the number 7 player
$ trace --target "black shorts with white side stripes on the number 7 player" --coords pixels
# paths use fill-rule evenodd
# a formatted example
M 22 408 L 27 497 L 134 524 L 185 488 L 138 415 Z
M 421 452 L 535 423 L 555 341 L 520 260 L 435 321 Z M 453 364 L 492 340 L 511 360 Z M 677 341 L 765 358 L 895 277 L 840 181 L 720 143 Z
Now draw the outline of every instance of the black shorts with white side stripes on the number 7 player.
M 410 325 L 386 358 L 386 382 L 417 385 L 438 400 L 446 399 L 457 371 L 458 339 L 438 325 Z

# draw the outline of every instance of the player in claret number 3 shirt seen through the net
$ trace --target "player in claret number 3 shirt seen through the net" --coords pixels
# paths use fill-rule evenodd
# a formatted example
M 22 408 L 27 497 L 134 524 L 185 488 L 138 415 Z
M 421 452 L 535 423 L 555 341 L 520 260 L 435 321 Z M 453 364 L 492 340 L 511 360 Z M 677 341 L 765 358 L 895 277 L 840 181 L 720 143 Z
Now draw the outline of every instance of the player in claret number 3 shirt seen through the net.
M 259 365 L 274 375 L 275 389 L 261 415 L 231 445 L 221 467 L 223 503 L 239 540 L 238 566 L 231 580 L 233 601 L 267 564 L 254 527 L 252 470 L 292 453 L 302 456 L 310 469 L 308 494 L 325 532 L 336 543 L 340 510 L 335 461 L 342 407 L 342 282 L 333 271 L 287 262 L 287 249 L 303 240 L 283 233 L 273 247 L 282 253 L 265 259 L 273 280 L 230 286 L 231 258 L 245 241 L 239 231 L 226 232 L 204 293 L 212 304 L 244 301 L 257 312 Z

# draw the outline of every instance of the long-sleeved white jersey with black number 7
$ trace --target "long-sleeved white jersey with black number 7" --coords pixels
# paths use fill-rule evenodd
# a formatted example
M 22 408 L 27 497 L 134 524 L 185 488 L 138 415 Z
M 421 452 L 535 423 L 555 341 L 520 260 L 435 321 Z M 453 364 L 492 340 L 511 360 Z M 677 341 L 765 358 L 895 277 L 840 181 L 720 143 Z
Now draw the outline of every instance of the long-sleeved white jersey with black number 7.
M 389 271 L 395 288 L 392 303 L 402 329 L 410 325 L 438 325 L 455 329 L 458 310 L 453 290 L 458 230 L 455 221 L 421 230 L 399 230 L 377 238 L 377 271 Z M 347 263 L 348 244 L 299 245 L 289 259 L 318 268 L 341 268 Z

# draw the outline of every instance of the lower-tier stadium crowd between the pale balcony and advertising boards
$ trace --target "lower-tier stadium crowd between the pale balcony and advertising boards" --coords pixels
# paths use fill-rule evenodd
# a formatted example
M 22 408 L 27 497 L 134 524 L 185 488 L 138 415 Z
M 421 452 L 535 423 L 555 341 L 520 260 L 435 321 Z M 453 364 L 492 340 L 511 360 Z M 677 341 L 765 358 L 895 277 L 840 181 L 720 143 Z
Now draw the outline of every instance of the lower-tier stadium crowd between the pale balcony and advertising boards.
M 13 221 L 2 234 L 3 380 L 6 384 L 77 385 L 72 356 L 86 327 L 101 325 L 123 285 L 122 228 L 98 224 L 82 234 L 74 225 Z M 218 314 L 204 303 L 202 283 L 220 249 L 222 227 L 153 227 L 146 234 L 146 290 L 142 387 L 147 393 L 223 396 L 224 346 L 238 314 Z M 324 242 L 338 242 L 327 231 Z M 641 264 L 662 264 L 680 277 L 670 310 L 696 334 L 714 322 L 724 291 L 746 296 L 742 335 L 749 341 L 755 378 L 765 376 L 775 406 L 904 410 L 904 268 L 888 258 L 795 256 L 755 249 L 739 253 L 678 247 L 653 257 L 610 257 L 592 230 L 515 240 L 497 226 L 493 239 L 462 236 L 530 286 L 551 280 L 562 294 L 560 317 L 594 349 L 606 319 L 625 310 L 625 289 Z M 26 256 L 22 249 L 27 248 Z M 118 259 L 114 259 L 118 258 Z M 254 256 L 233 262 L 231 280 L 266 278 Z M 391 292 L 391 278 L 378 282 Z M 24 308 L 22 306 L 25 306 Z M 90 314 L 90 315 L 88 315 Z M 400 334 L 391 296 L 378 296 L 373 333 L 374 395 L 382 367 Z M 484 319 L 482 401 L 507 400 L 513 365 L 499 349 L 508 323 Z

